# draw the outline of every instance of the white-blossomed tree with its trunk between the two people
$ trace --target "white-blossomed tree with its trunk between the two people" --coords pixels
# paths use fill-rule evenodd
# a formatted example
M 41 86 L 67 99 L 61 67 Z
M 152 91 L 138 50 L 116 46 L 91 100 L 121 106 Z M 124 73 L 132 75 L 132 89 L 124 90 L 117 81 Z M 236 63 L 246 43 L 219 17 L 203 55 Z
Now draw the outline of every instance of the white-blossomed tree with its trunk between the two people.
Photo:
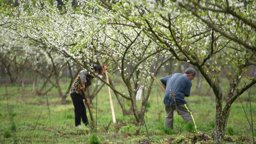
M 96 8 L 98 11 L 95 12 Z M 95 77 L 106 83 L 116 95 L 130 100 L 135 119 L 141 122 L 153 85 L 150 73 L 156 74 L 165 62 L 173 58 L 170 52 L 152 42 L 140 28 L 106 24 L 114 15 L 106 16 L 108 9 L 95 2 L 81 1 L 76 10 L 67 3 L 61 13 L 56 4 L 31 1 L 10 11 L 12 13 L 4 16 L 11 24 L 9 28 L 22 38 L 38 43 L 40 49 L 54 51 L 90 73 L 91 66 L 96 63 L 107 62 L 109 75 L 119 70 L 128 95 L 103 78 Z M 141 108 L 135 100 L 140 83 L 144 88 Z

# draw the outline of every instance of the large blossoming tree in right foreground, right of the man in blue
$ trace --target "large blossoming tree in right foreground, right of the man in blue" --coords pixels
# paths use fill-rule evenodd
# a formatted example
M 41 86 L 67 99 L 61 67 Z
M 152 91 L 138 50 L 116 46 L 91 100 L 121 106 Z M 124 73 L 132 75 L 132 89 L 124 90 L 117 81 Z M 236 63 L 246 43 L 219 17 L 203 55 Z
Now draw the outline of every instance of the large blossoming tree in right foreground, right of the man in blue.
M 223 4 L 224 3 L 224 4 Z M 215 143 L 224 137 L 232 103 L 256 83 L 244 76 L 255 64 L 255 2 L 246 6 L 236 1 L 101 1 L 119 25 L 140 28 L 152 41 L 170 51 L 179 61 L 195 65 L 216 97 Z M 241 14 L 238 14 L 241 12 Z M 125 22 L 124 22 L 125 21 Z M 230 73 L 230 87 L 223 105 L 219 73 L 223 67 L 236 68 Z

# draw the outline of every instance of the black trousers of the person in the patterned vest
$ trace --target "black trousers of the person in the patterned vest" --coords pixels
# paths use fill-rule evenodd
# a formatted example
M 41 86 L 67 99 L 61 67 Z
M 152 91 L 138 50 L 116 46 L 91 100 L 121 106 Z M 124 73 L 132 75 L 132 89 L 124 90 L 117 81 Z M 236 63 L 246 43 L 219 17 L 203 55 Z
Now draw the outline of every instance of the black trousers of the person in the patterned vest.
M 70 94 L 73 105 L 74 105 L 74 112 L 75 112 L 75 125 L 81 125 L 81 118 L 83 123 L 87 125 L 88 118 L 86 116 L 85 104 L 83 104 L 83 96 L 79 94 Z

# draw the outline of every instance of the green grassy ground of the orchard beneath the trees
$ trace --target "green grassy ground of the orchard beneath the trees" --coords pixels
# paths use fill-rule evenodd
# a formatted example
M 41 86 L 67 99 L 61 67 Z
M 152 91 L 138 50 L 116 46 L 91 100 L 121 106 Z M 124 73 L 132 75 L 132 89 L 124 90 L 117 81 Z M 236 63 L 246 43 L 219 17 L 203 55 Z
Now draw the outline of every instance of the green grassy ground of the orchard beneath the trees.
M 194 83 L 193 83 L 194 84 Z M 207 85 L 207 84 L 205 84 Z M 121 86 L 122 87 L 122 86 Z M 193 85 L 195 87 L 195 85 Z M 65 88 L 65 83 L 63 83 Z M 123 87 L 122 87 L 123 88 Z M 224 86 L 225 88 L 225 86 Z M 7 91 L 6 91 L 7 90 Z M 208 87 L 203 87 L 207 91 Z M 6 94 L 7 92 L 7 94 Z M 256 128 L 256 101 L 255 91 L 250 90 L 252 97 L 253 127 Z M 193 132 L 191 123 L 186 124 L 183 119 L 174 113 L 174 129 L 165 129 L 163 126 L 165 108 L 162 102 L 162 93 L 156 86 L 150 94 L 144 125 L 135 122 L 133 115 L 123 116 L 118 101 L 113 95 L 117 123 L 112 123 L 107 87 L 97 95 L 97 137 L 103 144 L 116 142 L 126 144 L 161 143 L 161 144 L 211 144 L 211 133 L 214 130 L 215 104 L 214 96 L 198 96 L 195 89 L 192 95 L 186 98 L 194 111 L 195 119 L 200 131 L 204 135 Z M 211 95 L 211 92 L 209 93 Z M 248 94 L 241 96 L 242 103 L 250 119 L 250 105 L 247 102 Z M 49 109 L 46 95 L 36 96 L 32 86 L 26 85 L 22 91 L 15 85 L 0 86 L 0 143 L 1 144 L 69 144 L 89 143 L 89 138 L 95 134 L 94 126 L 74 127 L 74 107 L 70 96 L 67 103 L 60 104 L 61 98 L 57 90 L 48 93 Z M 125 107 L 130 102 L 123 99 Z M 139 103 L 139 102 L 138 102 Z M 96 98 L 92 101 L 92 112 L 96 120 Z M 89 118 L 89 114 L 87 114 Z M 149 135 L 149 140 L 147 137 Z M 256 137 L 254 132 L 254 137 Z M 249 144 L 252 143 L 252 131 L 242 109 L 240 101 L 236 101 L 230 111 L 228 127 L 223 144 Z

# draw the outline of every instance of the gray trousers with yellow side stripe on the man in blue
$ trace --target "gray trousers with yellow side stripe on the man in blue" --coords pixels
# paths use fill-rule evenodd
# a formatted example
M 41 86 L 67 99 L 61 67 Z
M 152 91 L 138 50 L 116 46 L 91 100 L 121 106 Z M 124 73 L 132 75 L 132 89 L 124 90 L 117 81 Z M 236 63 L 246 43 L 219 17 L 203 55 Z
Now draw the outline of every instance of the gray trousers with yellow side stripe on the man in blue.
M 193 116 L 193 111 L 189 108 L 188 104 L 182 104 L 177 106 L 165 106 L 165 119 L 164 119 L 164 126 L 167 128 L 173 129 L 173 111 L 177 110 L 178 114 L 182 116 L 185 122 L 192 122 L 195 131 L 197 132 L 196 121 Z

